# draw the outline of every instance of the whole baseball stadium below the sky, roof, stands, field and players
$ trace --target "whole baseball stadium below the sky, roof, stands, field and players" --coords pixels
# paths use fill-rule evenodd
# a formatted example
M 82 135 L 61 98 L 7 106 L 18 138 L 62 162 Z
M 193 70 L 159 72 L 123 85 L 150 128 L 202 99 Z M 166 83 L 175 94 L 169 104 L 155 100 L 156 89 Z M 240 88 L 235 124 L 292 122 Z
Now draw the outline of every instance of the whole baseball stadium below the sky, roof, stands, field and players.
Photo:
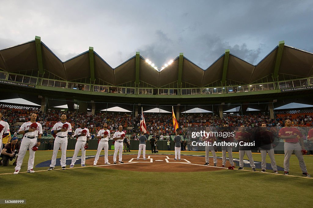
M 89 47 L 63 62 L 39 36 L 0 50 L 0 179 L 11 188 L 1 198 L 15 207 L 310 207 L 313 54 L 279 41 L 256 65 L 225 49 L 206 69 L 177 55 L 157 68 L 134 52 L 112 68 Z M 223 131 L 234 134 L 205 136 Z

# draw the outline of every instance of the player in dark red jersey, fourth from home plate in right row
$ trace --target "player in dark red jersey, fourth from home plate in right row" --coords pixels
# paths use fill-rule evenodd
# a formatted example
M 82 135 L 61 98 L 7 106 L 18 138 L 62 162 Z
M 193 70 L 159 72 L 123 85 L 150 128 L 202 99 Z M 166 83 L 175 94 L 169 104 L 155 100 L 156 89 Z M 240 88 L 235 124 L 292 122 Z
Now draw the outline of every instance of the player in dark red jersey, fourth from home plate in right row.
M 265 123 L 261 123 L 261 131 L 256 134 L 256 142 L 262 157 L 261 172 L 266 172 L 266 153 L 268 153 L 269 158 L 271 159 L 273 172 L 278 174 L 277 165 L 274 157 L 274 148 L 272 146 L 272 143 L 274 142 L 274 135 L 272 132 L 266 129 Z

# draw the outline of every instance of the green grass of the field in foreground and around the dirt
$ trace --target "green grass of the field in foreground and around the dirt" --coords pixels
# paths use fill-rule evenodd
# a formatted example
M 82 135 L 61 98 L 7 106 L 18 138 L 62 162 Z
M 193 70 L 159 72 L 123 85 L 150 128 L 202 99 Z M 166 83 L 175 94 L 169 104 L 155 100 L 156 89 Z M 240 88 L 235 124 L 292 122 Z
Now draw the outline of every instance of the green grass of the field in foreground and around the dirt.
M 58 158 L 60 153 L 59 151 Z M 67 156 L 70 157 L 73 153 L 69 150 Z M 96 151 L 90 150 L 86 155 L 95 153 Z M 109 154 L 113 154 L 113 151 Z M 182 154 L 204 155 L 204 152 Z M 221 155 L 221 152 L 217 153 L 217 156 Z M 35 165 L 50 160 L 51 156 L 52 151 L 36 152 Z M 233 153 L 233 157 L 239 158 L 238 153 Z M 260 154 L 253 154 L 253 157 L 255 161 L 261 161 Z M 282 167 L 284 156 L 275 155 L 275 158 L 277 165 Z M 28 153 L 21 172 L 27 170 L 27 161 Z M 269 158 L 267 162 L 270 162 Z M 305 162 L 308 172 L 312 174 L 313 156 L 305 156 Z M 46 169 L 47 167 L 34 168 L 35 171 Z M 135 172 L 86 167 L 0 175 L 1 188 L 7 190 L 2 192 L 1 199 L 27 201 L 26 205 L 5 205 L 6 207 L 310 207 L 313 204 L 310 197 L 313 179 L 283 176 L 282 171 L 280 175 L 264 174 L 259 169 L 258 172 L 161 171 Z M 12 165 L 0 167 L 0 173 L 13 172 Z M 293 155 L 290 160 L 290 175 L 301 174 L 299 162 Z

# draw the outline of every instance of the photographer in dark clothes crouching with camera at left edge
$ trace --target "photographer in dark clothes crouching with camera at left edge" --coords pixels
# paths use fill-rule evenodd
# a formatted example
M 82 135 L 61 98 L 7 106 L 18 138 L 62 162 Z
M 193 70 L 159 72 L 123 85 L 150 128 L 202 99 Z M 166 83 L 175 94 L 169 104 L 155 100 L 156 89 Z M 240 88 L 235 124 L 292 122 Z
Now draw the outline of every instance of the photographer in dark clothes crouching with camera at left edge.
M 15 159 L 15 162 L 13 162 L 13 165 L 16 165 L 17 156 L 20 146 L 18 145 L 18 138 L 14 137 L 10 143 L 8 143 L 2 150 L 1 155 L 2 159 L 0 160 L 0 164 L 3 166 L 8 166 L 9 160 L 12 161 Z

